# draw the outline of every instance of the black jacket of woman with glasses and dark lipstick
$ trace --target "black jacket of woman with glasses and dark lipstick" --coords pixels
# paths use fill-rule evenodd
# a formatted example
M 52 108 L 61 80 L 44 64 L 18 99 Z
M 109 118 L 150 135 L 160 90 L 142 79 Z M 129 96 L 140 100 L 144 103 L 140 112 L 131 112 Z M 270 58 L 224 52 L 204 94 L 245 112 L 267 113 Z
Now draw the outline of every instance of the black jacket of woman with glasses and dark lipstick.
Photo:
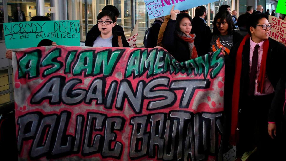
M 121 40 L 122 40 L 122 45 L 124 48 L 130 48 L 129 43 L 127 42 L 126 38 L 124 37 L 124 33 L 122 32 L 118 32 L 113 30 L 113 38 L 112 38 L 112 47 L 118 47 L 118 36 L 122 36 Z M 86 34 L 86 42 L 84 44 L 84 46 L 93 46 L 94 41 L 96 40 L 96 38 L 100 35 L 100 31 L 98 29 L 98 25 L 94 25 L 94 27 L 92 29 L 90 29 L 88 31 L 88 33 Z

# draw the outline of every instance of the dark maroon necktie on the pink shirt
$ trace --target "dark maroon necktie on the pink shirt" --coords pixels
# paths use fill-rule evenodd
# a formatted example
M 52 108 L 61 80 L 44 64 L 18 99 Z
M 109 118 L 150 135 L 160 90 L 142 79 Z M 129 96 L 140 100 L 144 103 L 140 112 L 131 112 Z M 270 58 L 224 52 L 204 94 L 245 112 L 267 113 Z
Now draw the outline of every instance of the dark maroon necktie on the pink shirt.
M 252 55 L 252 62 L 251 62 L 251 71 L 249 75 L 249 92 L 248 95 L 252 96 L 255 89 L 255 80 L 257 74 L 257 65 L 258 65 L 258 48 L 259 45 L 257 44 L 254 47 L 253 55 Z

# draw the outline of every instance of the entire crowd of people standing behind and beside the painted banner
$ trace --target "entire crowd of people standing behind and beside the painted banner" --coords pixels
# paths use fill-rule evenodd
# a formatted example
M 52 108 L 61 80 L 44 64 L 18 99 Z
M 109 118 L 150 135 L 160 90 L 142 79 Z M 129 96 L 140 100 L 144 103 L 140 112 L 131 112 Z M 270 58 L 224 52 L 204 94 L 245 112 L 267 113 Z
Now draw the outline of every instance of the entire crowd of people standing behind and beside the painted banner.
M 225 147 L 237 145 L 238 159 L 249 156 L 249 160 L 275 160 L 283 154 L 281 146 L 285 146 L 286 47 L 269 38 L 269 9 L 265 13 L 261 5 L 256 9 L 248 6 L 247 12 L 237 18 L 237 11 L 222 5 L 211 32 L 206 25 L 206 7 L 196 7 L 192 19 L 188 10 L 174 10 L 173 5 L 170 15 L 155 19 L 148 47 L 164 48 L 178 62 L 222 48 L 224 135 L 230 138 Z M 97 16 L 97 24 L 87 33 L 85 46 L 130 47 L 123 28 L 116 24 L 119 14 L 116 7 L 105 6 Z M 48 42 L 42 46 L 51 43 L 56 45 Z M 8 51 L 6 56 L 12 58 Z

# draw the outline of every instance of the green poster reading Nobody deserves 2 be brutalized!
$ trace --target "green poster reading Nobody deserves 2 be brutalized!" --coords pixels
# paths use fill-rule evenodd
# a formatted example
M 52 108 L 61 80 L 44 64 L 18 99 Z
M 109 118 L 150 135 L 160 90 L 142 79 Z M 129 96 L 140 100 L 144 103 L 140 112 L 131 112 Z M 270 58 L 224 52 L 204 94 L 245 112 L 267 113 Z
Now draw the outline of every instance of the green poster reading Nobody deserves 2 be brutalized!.
M 79 20 L 29 21 L 3 25 L 7 49 L 36 47 L 43 39 L 56 42 L 57 45 L 80 46 Z

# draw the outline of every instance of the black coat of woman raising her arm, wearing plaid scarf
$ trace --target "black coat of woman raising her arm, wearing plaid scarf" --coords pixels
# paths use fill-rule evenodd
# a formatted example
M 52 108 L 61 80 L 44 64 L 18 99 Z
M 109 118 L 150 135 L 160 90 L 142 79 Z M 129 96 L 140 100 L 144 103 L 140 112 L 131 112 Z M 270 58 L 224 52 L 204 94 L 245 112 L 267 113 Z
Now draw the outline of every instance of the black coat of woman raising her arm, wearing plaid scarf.
M 169 19 L 162 39 L 162 44 L 178 62 L 184 62 L 190 60 L 190 49 L 188 42 L 177 36 L 176 24 L 176 20 Z

